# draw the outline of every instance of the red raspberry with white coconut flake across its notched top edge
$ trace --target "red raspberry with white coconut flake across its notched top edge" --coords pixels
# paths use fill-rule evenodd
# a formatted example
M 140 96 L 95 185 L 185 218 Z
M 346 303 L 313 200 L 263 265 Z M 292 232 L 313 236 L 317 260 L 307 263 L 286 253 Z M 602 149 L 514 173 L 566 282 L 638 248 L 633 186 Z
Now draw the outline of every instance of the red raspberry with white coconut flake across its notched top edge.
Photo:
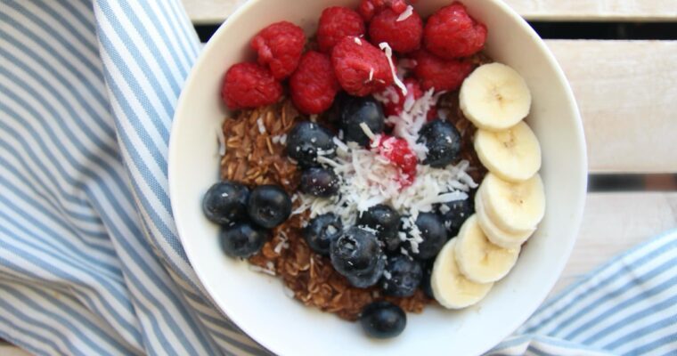
M 390 48 L 399 53 L 416 51 L 420 47 L 423 36 L 423 21 L 416 12 L 405 20 L 398 21 L 396 12 L 386 9 L 379 12 L 369 24 L 371 42 L 380 44 L 387 42 Z

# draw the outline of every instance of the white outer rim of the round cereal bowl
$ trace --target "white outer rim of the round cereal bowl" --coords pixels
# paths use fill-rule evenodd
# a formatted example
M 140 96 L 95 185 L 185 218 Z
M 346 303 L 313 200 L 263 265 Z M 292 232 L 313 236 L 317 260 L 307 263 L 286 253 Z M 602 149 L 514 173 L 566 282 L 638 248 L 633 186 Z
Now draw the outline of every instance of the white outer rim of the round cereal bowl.
M 235 12 L 232 12 L 232 14 L 224 20 L 221 25 L 216 29 L 215 33 L 210 37 L 208 40 L 207 44 L 205 44 L 198 55 L 197 60 L 195 63 L 192 65 L 192 69 L 190 71 L 190 74 L 188 77 L 186 77 L 183 89 L 179 95 L 178 101 L 176 101 L 176 106 L 175 106 L 175 113 L 172 117 L 172 125 L 171 125 L 171 131 L 170 131 L 170 136 L 169 136 L 169 145 L 168 145 L 168 160 L 167 160 L 167 181 L 168 181 L 168 187 L 169 187 L 169 200 L 170 200 L 170 206 L 172 208 L 172 214 L 174 216 L 175 220 L 175 225 L 176 225 L 176 234 L 178 235 L 179 240 L 181 241 L 181 245 L 184 248 L 184 253 L 188 258 L 188 261 L 192 264 L 192 261 L 197 261 L 198 257 L 197 255 L 192 255 L 190 249 L 185 248 L 186 244 L 188 244 L 187 241 L 187 234 L 182 234 L 181 232 L 184 231 L 184 225 L 182 223 L 182 219 L 179 217 L 177 212 L 177 207 L 175 206 L 175 201 L 177 199 L 172 198 L 176 197 L 178 194 L 178 190 L 181 189 L 181 187 L 176 183 L 176 180 L 174 179 L 174 174 L 172 169 L 173 165 L 172 162 L 176 161 L 176 157 L 178 155 L 178 148 L 177 146 L 177 141 L 178 139 L 176 138 L 175 132 L 179 131 L 182 127 L 182 121 L 178 119 L 178 117 L 185 116 L 184 111 L 187 111 L 187 103 L 186 103 L 186 95 L 185 93 L 189 92 L 192 90 L 192 87 L 195 85 L 198 85 L 198 83 L 195 81 L 194 77 L 196 77 L 196 72 L 200 67 L 202 66 L 202 63 L 206 61 L 206 58 L 208 58 L 208 53 L 212 51 L 212 47 L 216 45 L 216 42 L 219 42 L 219 38 L 221 36 L 224 36 L 224 32 L 226 28 L 228 28 L 228 24 L 233 20 L 237 19 L 240 17 L 242 14 L 245 12 L 248 12 L 249 8 L 254 6 L 255 4 L 262 2 L 262 1 L 267 1 L 267 0 L 249 0 L 245 4 L 242 4 L 238 9 L 236 9 Z M 462 1 L 462 0 L 461 0 Z M 555 76 L 559 79 L 559 82 L 563 85 L 564 92 L 565 92 L 565 99 L 567 100 L 568 106 L 570 111 L 573 113 L 573 119 L 575 120 L 575 130 L 573 132 L 573 139 L 575 141 L 576 147 L 578 150 L 580 150 L 580 163 L 578 166 L 578 171 L 581 173 L 577 177 L 578 182 L 582 189 L 577 193 L 576 201 L 577 204 L 574 206 L 574 216 L 573 216 L 573 222 L 574 222 L 574 228 L 572 229 L 571 233 L 574 235 L 573 238 L 568 239 L 568 243 L 566 247 L 563 247 L 562 252 L 564 255 L 566 255 L 566 258 L 563 258 L 560 260 L 559 265 L 556 265 L 556 268 L 554 268 L 553 274 L 556 274 L 558 276 L 558 279 L 552 279 L 549 283 L 547 283 L 547 288 L 542 288 L 542 295 L 539 295 L 535 300 L 538 301 L 538 303 L 534 303 L 532 305 L 529 305 L 528 307 L 524 308 L 525 312 L 522 312 L 522 316 L 520 318 L 515 318 L 514 320 L 509 321 L 510 328 L 505 328 L 506 330 L 510 330 L 506 335 L 502 335 L 501 338 L 498 341 L 493 341 L 492 343 L 487 343 L 488 346 L 485 346 L 484 350 L 481 351 L 481 353 L 489 351 L 491 348 L 493 348 L 496 344 L 500 344 L 505 337 L 510 336 L 510 333 L 514 332 L 520 325 L 522 325 L 530 315 L 532 315 L 535 310 L 542 305 L 543 301 L 547 297 L 547 295 L 551 292 L 552 287 L 555 285 L 555 283 L 559 280 L 559 276 L 561 276 L 562 271 L 564 270 L 570 256 L 571 252 L 575 246 L 575 241 L 578 238 L 578 234 L 580 232 L 581 228 L 581 223 L 583 221 L 583 210 L 584 210 L 584 205 L 585 205 L 585 195 L 587 192 L 587 174 L 588 174 L 588 169 L 587 169 L 587 150 L 586 150 L 586 144 L 585 144 L 585 139 L 584 139 L 584 133 L 583 133 L 583 121 L 581 118 L 580 111 L 578 109 L 577 103 L 575 101 L 575 96 L 573 93 L 573 90 L 571 89 L 571 85 L 569 84 L 566 75 L 564 74 L 564 71 L 561 69 L 559 66 L 559 62 L 555 59 L 554 54 L 551 52 L 550 48 L 543 42 L 542 38 L 536 34 L 534 28 L 529 26 L 529 24 L 526 22 L 524 18 L 522 18 L 515 10 L 513 10 L 508 4 L 505 4 L 502 2 L 502 0 L 485 0 L 490 3 L 493 3 L 494 5 L 498 6 L 500 10 L 505 13 L 508 17 L 510 17 L 511 20 L 515 22 L 515 24 L 522 28 L 523 30 L 526 30 L 526 34 L 534 41 L 534 43 L 537 45 L 538 49 L 542 52 L 544 55 L 545 60 L 547 61 L 548 65 L 550 66 L 551 69 L 554 70 Z M 449 0 L 450 4 L 453 2 L 452 0 Z M 185 121 L 185 120 L 184 120 Z M 267 342 L 266 339 L 262 339 L 259 336 L 256 336 L 255 334 L 252 333 L 253 330 L 250 330 L 247 327 L 243 327 L 243 325 L 237 317 L 232 317 L 232 313 L 230 312 L 230 308 L 228 308 L 227 305 L 223 305 L 223 303 L 219 303 L 216 298 L 214 298 L 212 295 L 215 295 L 213 287 L 210 287 L 208 283 L 205 283 L 207 280 L 202 273 L 200 272 L 199 269 L 196 269 L 193 267 L 193 271 L 195 272 L 195 275 L 198 277 L 200 280 L 200 285 L 204 289 L 204 291 L 207 292 L 207 297 L 208 299 L 216 306 L 218 307 L 221 312 L 224 313 L 224 315 L 232 320 L 234 325 L 237 326 L 237 328 L 240 328 L 241 331 L 246 334 L 250 339 L 254 340 L 259 346 L 265 348 L 265 350 L 269 352 L 273 352 L 275 354 L 281 354 L 281 350 L 275 350 L 272 345 Z M 556 273 L 555 273 L 556 272 Z M 282 295 L 283 296 L 283 295 Z

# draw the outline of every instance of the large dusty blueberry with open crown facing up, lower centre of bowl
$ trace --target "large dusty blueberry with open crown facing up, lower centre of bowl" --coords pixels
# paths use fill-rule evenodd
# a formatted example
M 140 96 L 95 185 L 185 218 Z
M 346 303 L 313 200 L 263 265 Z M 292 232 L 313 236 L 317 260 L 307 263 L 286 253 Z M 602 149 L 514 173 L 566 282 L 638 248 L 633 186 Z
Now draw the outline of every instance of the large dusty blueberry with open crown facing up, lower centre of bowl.
M 382 255 L 379 239 L 355 226 L 343 231 L 330 245 L 331 264 L 346 277 L 373 271 Z

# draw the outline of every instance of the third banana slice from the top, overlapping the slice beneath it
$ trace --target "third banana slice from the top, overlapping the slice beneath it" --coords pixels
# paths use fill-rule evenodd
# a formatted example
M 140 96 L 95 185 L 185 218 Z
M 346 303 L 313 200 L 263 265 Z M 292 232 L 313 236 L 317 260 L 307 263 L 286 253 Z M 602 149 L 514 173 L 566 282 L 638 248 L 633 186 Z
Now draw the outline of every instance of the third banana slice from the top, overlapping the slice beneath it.
M 505 182 L 488 173 L 481 184 L 485 213 L 499 229 L 512 233 L 534 231 L 545 214 L 541 175 L 525 182 Z

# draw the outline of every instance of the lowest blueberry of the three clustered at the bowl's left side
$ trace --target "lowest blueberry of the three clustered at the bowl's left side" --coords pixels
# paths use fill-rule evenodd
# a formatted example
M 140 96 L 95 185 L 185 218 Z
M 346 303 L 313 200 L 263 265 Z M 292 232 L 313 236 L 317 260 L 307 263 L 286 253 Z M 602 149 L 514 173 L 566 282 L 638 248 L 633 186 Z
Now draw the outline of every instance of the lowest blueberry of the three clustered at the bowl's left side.
M 270 239 L 270 233 L 247 222 L 225 226 L 220 233 L 225 255 L 248 258 L 255 255 Z

